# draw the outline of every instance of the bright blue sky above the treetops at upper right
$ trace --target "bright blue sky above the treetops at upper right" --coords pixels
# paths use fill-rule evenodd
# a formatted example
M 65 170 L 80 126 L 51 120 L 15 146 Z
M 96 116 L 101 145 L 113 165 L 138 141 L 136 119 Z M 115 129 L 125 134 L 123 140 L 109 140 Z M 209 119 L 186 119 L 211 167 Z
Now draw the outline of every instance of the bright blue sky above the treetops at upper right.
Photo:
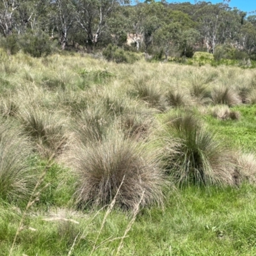
M 203 1 L 203 0 L 201 0 Z M 208 2 L 208 0 L 204 0 L 205 2 Z M 193 0 L 167 0 L 168 3 L 184 3 L 184 2 L 190 2 L 195 3 Z M 223 3 L 222 0 L 209 0 L 212 4 L 216 3 Z M 227 2 L 225 2 L 227 3 Z M 256 10 L 256 0 L 231 0 L 228 5 L 232 8 L 237 7 L 239 10 L 244 12 L 252 12 Z M 256 14 L 256 13 L 255 13 Z

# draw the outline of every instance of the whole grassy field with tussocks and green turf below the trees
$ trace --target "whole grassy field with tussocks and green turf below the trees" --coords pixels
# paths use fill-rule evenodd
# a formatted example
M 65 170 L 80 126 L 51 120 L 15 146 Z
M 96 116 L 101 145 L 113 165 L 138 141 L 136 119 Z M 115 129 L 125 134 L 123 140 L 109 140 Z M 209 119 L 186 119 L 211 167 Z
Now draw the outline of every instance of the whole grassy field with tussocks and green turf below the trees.
M 0 255 L 256 255 L 256 71 L 0 51 Z

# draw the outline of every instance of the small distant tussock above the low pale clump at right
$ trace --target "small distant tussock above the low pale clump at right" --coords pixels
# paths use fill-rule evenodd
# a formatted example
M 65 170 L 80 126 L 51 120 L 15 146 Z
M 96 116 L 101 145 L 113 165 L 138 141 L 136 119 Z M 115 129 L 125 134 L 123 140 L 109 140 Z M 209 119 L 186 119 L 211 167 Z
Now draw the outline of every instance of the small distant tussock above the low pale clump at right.
M 214 87 L 212 90 L 212 100 L 214 104 L 225 104 L 230 107 L 241 104 L 241 99 L 236 91 L 227 86 Z

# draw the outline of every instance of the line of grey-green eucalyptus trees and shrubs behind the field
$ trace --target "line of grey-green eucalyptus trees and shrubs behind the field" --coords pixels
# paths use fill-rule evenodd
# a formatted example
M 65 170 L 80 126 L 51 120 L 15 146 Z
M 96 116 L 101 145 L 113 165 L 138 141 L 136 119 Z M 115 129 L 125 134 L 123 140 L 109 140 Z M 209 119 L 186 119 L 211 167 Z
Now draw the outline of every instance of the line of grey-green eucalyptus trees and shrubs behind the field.
M 0 35 L 1 47 L 11 54 L 23 49 L 42 56 L 52 45 L 92 51 L 111 44 L 111 51 L 122 47 L 154 58 L 208 51 L 217 59 L 256 59 L 256 15 L 227 3 L 3 0 Z

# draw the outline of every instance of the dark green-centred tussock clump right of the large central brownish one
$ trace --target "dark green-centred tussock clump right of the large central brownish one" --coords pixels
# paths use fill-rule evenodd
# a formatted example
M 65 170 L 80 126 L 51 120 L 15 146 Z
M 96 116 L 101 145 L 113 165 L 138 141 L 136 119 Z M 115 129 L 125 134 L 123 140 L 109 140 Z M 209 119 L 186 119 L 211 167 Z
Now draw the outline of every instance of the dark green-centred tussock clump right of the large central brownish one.
M 177 154 L 166 156 L 168 172 L 179 184 L 234 185 L 232 152 L 221 146 L 191 113 L 176 113 L 166 120 L 166 137 L 179 141 Z

